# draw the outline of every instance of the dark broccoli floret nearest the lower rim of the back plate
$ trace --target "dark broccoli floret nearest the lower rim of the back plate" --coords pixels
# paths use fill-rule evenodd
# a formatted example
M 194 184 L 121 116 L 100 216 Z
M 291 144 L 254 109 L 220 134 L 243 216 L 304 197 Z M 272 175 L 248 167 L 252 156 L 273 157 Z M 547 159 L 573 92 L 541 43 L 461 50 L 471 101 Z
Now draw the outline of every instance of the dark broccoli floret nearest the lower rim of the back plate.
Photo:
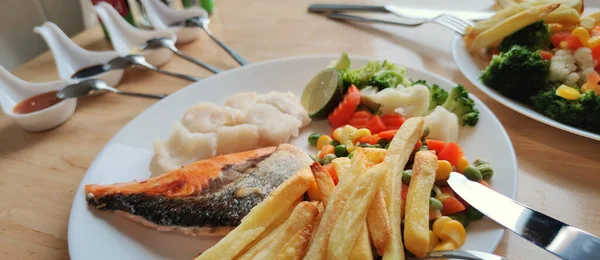
M 532 97 L 533 107 L 563 124 L 600 132 L 600 96 L 589 90 L 578 100 L 567 100 L 556 95 L 556 88 L 541 91 Z

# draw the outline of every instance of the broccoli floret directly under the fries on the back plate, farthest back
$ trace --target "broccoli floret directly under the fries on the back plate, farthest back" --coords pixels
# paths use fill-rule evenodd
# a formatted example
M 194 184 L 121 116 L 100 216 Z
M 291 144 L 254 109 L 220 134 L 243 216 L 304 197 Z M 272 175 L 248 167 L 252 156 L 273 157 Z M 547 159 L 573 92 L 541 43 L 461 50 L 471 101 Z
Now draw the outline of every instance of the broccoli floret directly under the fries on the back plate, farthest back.
M 550 48 L 550 29 L 544 21 L 537 21 L 505 37 L 498 48 L 500 52 L 507 52 L 515 45 L 534 51 L 547 50 Z

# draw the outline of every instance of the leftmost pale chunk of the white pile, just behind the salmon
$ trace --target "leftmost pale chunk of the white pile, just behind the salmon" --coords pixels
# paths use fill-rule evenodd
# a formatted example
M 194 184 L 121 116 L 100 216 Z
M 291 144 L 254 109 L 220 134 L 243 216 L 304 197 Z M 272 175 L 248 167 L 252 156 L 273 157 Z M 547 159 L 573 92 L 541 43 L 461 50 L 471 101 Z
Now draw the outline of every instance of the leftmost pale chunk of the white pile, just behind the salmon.
M 215 156 L 216 133 L 191 133 L 176 122 L 167 141 L 154 141 L 156 162 L 163 172 L 172 171 L 188 163 Z

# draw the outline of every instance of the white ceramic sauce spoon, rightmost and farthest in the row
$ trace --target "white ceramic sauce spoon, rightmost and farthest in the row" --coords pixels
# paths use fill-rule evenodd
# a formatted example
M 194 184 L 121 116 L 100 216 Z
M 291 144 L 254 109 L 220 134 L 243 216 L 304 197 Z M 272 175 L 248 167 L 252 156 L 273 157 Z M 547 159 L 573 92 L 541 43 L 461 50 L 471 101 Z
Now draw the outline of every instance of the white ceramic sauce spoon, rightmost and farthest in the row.
M 177 43 L 188 43 L 200 37 L 201 28 L 172 26 L 192 17 L 208 17 L 208 13 L 201 8 L 177 10 L 168 7 L 160 0 L 142 0 L 148 20 L 158 30 L 171 30 L 177 35 Z

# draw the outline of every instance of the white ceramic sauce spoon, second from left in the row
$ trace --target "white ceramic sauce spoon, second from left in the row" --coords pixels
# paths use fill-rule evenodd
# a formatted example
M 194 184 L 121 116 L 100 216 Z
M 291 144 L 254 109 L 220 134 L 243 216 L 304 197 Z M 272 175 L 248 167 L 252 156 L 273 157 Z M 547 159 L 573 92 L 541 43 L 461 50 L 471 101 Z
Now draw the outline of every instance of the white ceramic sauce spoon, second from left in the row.
M 58 74 L 63 80 L 71 79 L 80 69 L 106 63 L 119 54 L 115 51 L 88 51 L 75 44 L 56 24 L 45 22 L 33 31 L 44 38 L 50 47 Z M 123 78 L 123 70 L 114 70 L 90 78 L 101 79 L 111 86 L 117 86 Z

